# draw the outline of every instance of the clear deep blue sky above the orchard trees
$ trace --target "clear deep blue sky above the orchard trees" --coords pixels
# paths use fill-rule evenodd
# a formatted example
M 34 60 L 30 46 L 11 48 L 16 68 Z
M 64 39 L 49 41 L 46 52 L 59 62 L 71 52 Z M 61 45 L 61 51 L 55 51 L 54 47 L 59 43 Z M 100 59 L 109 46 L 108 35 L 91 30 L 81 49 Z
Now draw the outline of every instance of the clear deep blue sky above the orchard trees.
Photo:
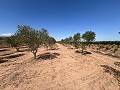
M 96 41 L 120 40 L 120 0 L 0 0 L 0 36 L 17 25 L 46 28 L 56 40 L 89 30 Z

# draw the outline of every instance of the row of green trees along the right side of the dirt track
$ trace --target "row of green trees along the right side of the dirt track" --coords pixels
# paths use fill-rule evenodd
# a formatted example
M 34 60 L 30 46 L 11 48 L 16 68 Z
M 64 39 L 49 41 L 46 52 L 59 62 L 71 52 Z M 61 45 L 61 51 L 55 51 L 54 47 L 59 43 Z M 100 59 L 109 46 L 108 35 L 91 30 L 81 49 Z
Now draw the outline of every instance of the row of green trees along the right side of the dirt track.
M 81 47 L 82 52 L 85 48 L 85 44 L 92 42 L 95 40 L 95 32 L 86 31 L 84 34 L 80 35 L 80 33 L 74 34 L 74 36 L 70 36 L 69 38 L 65 38 L 61 40 L 63 44 L 72 44 L 76 49 Z

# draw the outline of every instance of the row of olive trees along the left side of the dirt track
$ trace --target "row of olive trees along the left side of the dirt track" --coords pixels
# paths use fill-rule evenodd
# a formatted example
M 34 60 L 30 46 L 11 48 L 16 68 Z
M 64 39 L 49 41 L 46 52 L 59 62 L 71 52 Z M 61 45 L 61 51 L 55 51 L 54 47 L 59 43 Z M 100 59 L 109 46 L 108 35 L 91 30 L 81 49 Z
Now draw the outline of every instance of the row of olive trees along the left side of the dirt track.
M 47 29 L 36 30 L 30 26 L 18 25 L 14 35 L 8 37 L 6 42 L 19 51 L 21 45 L 26 45 L 36 58 L 39 46 L 47 49 L 56 43 L 56 40 L 49 36 Z

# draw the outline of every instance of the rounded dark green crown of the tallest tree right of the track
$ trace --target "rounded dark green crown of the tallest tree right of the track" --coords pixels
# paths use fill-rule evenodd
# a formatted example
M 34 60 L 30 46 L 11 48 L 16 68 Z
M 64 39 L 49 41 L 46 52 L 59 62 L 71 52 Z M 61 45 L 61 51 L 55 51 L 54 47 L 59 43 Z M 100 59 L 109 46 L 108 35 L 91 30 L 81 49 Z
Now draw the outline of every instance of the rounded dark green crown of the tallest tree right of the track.
M 86 41 L 86 42 L 91 42 L 93 40 L 95 40 L 95 32 L 92 31 L 86 31 L 83 35 L 82 38 Z

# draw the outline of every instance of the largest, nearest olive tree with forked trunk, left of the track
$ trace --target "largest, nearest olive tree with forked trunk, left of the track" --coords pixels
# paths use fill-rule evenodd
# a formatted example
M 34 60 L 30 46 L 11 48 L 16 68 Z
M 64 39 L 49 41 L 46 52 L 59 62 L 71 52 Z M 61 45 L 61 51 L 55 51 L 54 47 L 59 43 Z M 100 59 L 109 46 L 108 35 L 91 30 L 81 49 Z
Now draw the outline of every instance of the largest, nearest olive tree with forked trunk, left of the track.
M 33 53 L 34 58 L 36 58 L 38 47 L 41 44 L 39 31 L 30 26 L 18 25 L 17 33 L 20 35 L 23 43 L 26 44 Z

